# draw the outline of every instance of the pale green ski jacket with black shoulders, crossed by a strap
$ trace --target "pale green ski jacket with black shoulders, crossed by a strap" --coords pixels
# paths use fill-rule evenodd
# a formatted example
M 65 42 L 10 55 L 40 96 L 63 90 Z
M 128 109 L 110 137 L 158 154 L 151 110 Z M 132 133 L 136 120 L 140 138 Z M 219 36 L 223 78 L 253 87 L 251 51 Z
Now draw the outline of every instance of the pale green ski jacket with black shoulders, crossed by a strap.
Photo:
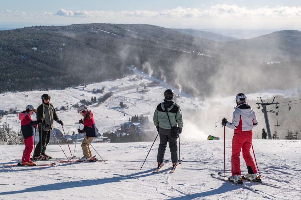
M 167 112 L 169 119 L 171 121 L 171 125 L 168 121 L 167 113 L 165 111 L 164 104 L 167 107 Z M 182 120 L 182 112 L 180 106 L 173 102 L 172 100 L 165 100 L 164 102 L 160 103 L 154 113 L 153 121 L 155 126 L 159 126 L 163 129 L 171 129 L 171 126 L 174 127 L 178 124 L 179 128 L 183 127 L 183 120 Z

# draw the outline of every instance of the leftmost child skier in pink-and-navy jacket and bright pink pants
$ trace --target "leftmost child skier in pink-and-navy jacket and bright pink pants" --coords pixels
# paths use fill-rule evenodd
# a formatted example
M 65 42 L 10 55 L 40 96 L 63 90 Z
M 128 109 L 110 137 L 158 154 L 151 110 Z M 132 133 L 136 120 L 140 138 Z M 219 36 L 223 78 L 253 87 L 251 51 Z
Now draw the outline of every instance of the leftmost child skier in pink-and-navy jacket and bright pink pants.
M 34 127 L 37 124 L 42 123 L 42 119 L 33 121 L 30 117 L 37 110 L 32 105 L 28 105 L 25 111 L 19 113 L 19 120 L 21 120 L 21 132 L 24 138 L 25 149 L 23 151 L 22 160 L 19 162 L 20 165 L 35 165 L 34 162 L 30 160 L 30 154 L 34 150 Z

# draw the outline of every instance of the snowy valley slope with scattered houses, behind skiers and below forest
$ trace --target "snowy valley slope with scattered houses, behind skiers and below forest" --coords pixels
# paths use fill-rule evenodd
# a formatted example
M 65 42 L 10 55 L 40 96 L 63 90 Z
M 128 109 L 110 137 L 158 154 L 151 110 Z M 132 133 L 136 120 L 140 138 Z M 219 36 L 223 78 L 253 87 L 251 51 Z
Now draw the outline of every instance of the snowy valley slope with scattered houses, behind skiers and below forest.
M 27 91 L 27 92 L 7 92 L 0 94 L 0 110 L 9 110 L 10 108 L 17 108 L 24 110 L 28 104 L 39 106 L 42 103 L 41 96 L 47 93 L 51 96 L 50 103 L 54 107 L 71 106 L 78 103 L 81 99 L 90 100 L 91 97 L 97 99 L 102 97 L 104 93 L 94 93 L 93 89 L 105 87 L 105 92 L 112 91 L 113 96 L 107 101 L 97 106 L 94 103 L 90 106 L 94 113 L 94 120 L 99 133 L 102 134 L 107 131 L 112 131 L 120 128 L 121 124 L 127 122 L 133 115 L 148 115 L 152 121 L 153 113 L 156 106 L 163 101 L 163 93 L 166 89 L 174 90 L 177 98 L 177 103 L 180 105 L 183 112 L 184 131 L 189 133 L 183 135 L 184 140 L 207 140 L 208 135 L 223 136 L 223 129 L 220 122 L 215 129 L 215 122 L 221 121 L 223 117 L 230 117 L 235 106 L 235 97 L 215 97 L 214 99 L 201 101 L 191 95 L 188 95 L 181 90 L 168 86 L 164 81 L 160 81 L 148 74 L 145 74 L 133 68 L 134 75 L 127 76 L 122 79 L 105 81 L 101 83 L 94 83 L 85 86 L 66 88 L 65 90 L 49 90 L 49 91 Z M 138 76 L 142 77 L 142 80 Z M 137 92 L 143 89 L 143 85 L 157 81 L 160 84 L 155 87 L 147 87 L 149 89 L 146 93 Z M 295 89 L 297 90 L 297 89 Z M 240 91 L 239 91 L 240 92 Z M 247 94 L 248 99 L 257 99 L 258 96 L 283 96 L 291 97 L 294 90 L 267 90 L 254 94 Z M 128 108 L 121 108 L 120 101 L 125 103 Z M 215 102 L 231 108 L 231 110 L 216 109 Z M 78 122 L 81 116 L 77 113 L 77 109 L 71 107 L 71 110 L 58 111 L 58 117 L 64 122 L 64 130 L 66 133 L 73 131 L 77 132 Z M 201 111 L 200 111 L 201 110 Z M 257 111 L 257 110 L 256 110 Z M 261 134 L 261 129 L 264 128 L 263 115 L 258 114 L 260 126 L 254 128 L 254 138 Z M 32 116 L 35 120 L 35 114 Z M 20 121 L 16 114 L 4 115 L 0 121 L 0 125 L 7 122 L 14 131 L 20 129 Z M 54 127 L 61 129 L 60 125 L 54 122 Z M 154 127 L 155 128 L 155 127 Z M 62 131 L 62 130 L 61 130 Z M 273 131 L 273 130 L 272 130 Z M 231 138 L 233 130 L 227 129 L 227 139 Z

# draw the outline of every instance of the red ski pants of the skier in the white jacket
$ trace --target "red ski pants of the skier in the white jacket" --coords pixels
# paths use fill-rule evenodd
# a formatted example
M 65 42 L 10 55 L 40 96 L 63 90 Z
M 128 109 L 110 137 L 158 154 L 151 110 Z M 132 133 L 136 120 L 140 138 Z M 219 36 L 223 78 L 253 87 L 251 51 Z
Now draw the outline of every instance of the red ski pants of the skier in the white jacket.
M 239 135 L 234 133 L 232 139 L 232 156 L 231 156 L 231 172 L 232 175 L 241 175 L 240 173 L 240 151 L 243 151 L 243 159 L 246 161 L 248 173 L 257 173 L 254 160 L 251 156 L 252 134 L 251 135 Z

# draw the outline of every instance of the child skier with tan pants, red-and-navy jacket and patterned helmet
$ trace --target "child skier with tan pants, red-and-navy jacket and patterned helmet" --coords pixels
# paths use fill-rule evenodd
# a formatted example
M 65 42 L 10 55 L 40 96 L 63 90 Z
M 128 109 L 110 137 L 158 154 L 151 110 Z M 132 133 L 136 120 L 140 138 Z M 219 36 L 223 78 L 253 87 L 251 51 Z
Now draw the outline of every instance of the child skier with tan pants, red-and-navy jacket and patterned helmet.
M 78 129 L 78 133 L 86 133 L 86 139 L 82 140 L 81 145 L 84 156 L 78 160 L 80 162 L 97 160 L 95 157 L 92 158 L 92 153 L 90 150 L 90 143 L 92 142 L 94 137 L 97 136 L 97 131 L 93 119 L 93 113 L 88 109 L 88 106 L 81 105 L 77 110 L 77 112 L 83 116 L 83 119 L 80 119 L 79 123 L 84 125 L 83 129 Z

